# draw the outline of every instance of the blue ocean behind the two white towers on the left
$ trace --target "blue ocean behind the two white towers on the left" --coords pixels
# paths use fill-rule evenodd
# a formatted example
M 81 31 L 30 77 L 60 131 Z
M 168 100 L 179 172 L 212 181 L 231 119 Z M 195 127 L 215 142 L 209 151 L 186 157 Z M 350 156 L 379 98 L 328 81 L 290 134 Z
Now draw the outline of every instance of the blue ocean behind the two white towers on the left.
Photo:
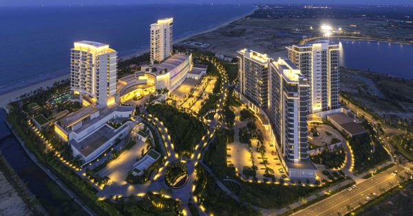
M 149 49 L 149 25 L 173 17 L 178 40 L 253 12 L 253 5 L 105 5 L 0 8 L 0 94 L 69 73 L 77 40 L 118 56 Z

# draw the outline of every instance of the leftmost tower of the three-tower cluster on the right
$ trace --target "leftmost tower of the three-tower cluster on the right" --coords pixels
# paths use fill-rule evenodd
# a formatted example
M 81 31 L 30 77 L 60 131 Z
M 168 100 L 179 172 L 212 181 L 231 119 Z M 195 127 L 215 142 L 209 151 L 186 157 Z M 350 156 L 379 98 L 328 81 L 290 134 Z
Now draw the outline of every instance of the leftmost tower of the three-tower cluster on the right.
M 266 54 L 242 49 L 238 51 L 238 84 L 240 93 L 255 106 L 268 108 L 268 62 Z

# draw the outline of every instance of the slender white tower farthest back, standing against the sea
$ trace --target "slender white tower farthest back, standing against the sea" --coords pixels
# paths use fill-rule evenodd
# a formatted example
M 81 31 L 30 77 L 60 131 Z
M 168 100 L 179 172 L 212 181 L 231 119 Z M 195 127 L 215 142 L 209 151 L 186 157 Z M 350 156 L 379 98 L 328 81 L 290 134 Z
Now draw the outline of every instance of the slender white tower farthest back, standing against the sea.
M 151 64 L 162 62 L 172 54 L 173 18 L 160 19 L 151 24 Z

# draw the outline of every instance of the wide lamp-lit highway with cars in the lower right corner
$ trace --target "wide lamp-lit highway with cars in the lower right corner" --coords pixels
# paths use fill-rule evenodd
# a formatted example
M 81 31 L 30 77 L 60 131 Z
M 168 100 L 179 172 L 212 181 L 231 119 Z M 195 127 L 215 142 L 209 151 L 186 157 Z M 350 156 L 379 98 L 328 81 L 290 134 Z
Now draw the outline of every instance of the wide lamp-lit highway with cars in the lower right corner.
M 396 176 L 392 172 L 398 171 Z M 357 184 L 356 189 L 343 191 L 321 200 L 307 208 L 304 208 L 293 215 L 345 215 L 360 204 L 365 204 L 366 197 L 372 197 L 372 193 L 380 195 L 383 191 L 395 187 L 401 181 L 399 176 L 406 178 L 407 169 L 395 165 L 390 169 L 383 171 L 376 176 Z M 373 198 L 373 197 L 372 197 Z

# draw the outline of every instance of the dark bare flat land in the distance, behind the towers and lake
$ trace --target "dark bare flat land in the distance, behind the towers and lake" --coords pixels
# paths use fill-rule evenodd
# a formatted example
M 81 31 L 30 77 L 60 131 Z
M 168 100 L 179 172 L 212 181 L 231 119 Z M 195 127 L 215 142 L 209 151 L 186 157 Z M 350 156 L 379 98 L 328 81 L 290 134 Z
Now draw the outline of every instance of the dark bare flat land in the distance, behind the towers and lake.
M 248 48 L 267 53 L 272 58 L 286 55 L 286 46 L 299 43 L 304 37 L 320 35 L 319 27 L 328 23 L 355 36 L 376 38 L 412 36 L 413 30 L 386 25 L 381 20 L 369 19 L 262 19 L 243 18 L 212 32 L 193 36 L 187 41 L 209 43 L 206 51 L 236 56 L 240 49 Z M 180 43 L 180 45 L 182 45 Z

